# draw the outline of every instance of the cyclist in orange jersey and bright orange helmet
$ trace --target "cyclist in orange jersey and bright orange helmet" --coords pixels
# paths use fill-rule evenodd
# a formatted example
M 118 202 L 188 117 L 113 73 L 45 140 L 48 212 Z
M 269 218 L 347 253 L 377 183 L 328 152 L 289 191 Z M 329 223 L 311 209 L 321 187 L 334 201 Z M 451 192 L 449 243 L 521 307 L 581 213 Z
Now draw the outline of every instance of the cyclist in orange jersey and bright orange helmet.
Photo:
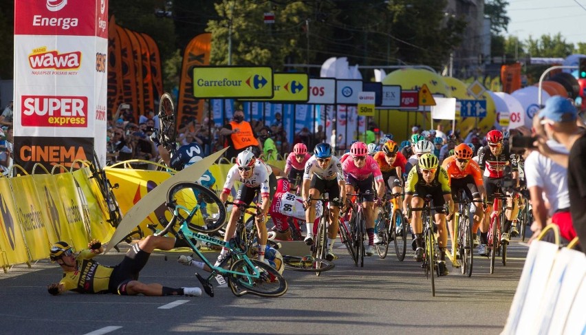
M 478 163 L 472 160 L 472 149 L 468 147 L 468 144 L 462 143 L 455 147 L 454 153 L 454 155 L 446 158 L 442 163 L 442 167 L 448 173 L 448 177 L 450 177 L 452 196 L 456 197 L 458 191 L 462 190 L 463 193 L 466 193 L 468 199 L 486 199 L 482 171 Z M 484 219 L 484 210 L 479 209 L 478 203 L 475 202 L 470 213 L 474 213 L 472 231 L 474 232 L 473 236 L 475 236 L 478 228 L 481 226 L 482 219 Z M 452 246 L 454 246 L 453 217 L 448 221 L 448 229 L 450 230 Z M 481 229 L 481 232 L 486 233 L 486 230 Z M 484 253 L 486 253 L 486 250 L 484 250 Z

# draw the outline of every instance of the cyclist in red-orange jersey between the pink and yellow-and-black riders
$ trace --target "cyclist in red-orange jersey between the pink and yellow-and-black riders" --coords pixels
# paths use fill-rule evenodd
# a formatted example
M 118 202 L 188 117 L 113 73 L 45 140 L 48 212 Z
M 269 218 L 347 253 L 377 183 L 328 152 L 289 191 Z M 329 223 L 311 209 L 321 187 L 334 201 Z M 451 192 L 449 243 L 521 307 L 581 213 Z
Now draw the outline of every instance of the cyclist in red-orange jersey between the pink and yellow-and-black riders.
M 397 143 L 389 140 L 382 144 L 382 151 L 378 151 L 378 153 L 374 155 L 374 160 L 378 164 L 380 173 L 382 173 L 382 180 L 387 182 L 389 190 L 391 190 L 392 193 L 402 193 L 402 176 L 405 171 L 407 160 L 399 152 Z M 399 198 L 398 203 L 402 204 L 403 200 Z

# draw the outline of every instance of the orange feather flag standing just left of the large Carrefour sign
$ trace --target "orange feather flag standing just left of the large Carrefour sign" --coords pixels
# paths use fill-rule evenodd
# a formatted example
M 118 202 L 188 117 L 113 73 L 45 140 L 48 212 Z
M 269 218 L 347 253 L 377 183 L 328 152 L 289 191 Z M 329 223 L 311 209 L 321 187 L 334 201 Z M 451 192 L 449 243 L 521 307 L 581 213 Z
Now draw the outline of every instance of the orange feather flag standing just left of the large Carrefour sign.
M 193 96 L 193 68 L 210 64 L 211 39 L 210 33 L 199 34 L 189 41 L 185 48 L 177 100 L 177 118 L 180 125 L 191 118 L 201 122 L 206 112 L 204 100 L 198 100 Z

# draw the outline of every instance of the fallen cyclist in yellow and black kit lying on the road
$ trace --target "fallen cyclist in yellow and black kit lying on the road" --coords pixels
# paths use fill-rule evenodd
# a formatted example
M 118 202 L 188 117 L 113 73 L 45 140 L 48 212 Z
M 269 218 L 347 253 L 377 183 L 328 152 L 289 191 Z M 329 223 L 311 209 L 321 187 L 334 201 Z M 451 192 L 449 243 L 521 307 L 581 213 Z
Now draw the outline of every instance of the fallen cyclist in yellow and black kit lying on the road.
M 119 295 L 144 294 L 145 296 L 184 295 L 200 296 L 200 288 L 168 288 L 160 283 L 141 283 L 138 274 L 156 249 L 171 250 L 175 238 L 147 236 L 134 244 L 117 266 L 103 266 L 94 261 L 94 256 L 104 252 L 100 241 L 93 239 L 77 256 L 69 244 L 56 242 L 51 247 L 50 259 L 63 269 L 59 283 L 47 285 L 50 294 L 57 295 L 67 290 L 79 293 L 113 293 Z

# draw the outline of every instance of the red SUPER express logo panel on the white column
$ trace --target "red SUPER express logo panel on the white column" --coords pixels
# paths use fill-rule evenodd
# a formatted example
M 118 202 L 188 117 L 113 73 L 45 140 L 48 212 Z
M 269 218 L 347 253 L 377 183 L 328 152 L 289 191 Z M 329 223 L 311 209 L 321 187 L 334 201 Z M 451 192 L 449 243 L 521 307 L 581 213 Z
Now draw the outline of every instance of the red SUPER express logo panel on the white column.
M 26 127 L 87 127 L 87 96 L 22 96 Z

